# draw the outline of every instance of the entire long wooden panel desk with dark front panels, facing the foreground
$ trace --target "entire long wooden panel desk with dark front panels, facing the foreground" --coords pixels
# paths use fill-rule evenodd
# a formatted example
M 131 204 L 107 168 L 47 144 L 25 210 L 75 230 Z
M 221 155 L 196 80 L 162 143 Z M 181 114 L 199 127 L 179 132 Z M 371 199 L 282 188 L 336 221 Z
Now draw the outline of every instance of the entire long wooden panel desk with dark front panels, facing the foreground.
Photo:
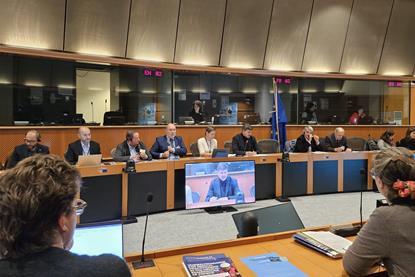
M 184 209 L 186 163 L 253 160 L 255 194 L 260 200 L 283 193 L 296 196 L 372 189 L 372 179 L 367 172 L 373 155 L 373 152 L 293 153 L 289 163 L 281 162 L 281 154 L 218 159 L 190 157 L 139 162 L 134 174 L 122 171 L 125 163 L 80 167 L 84 179 L 81 197 L 89 200 L 81 222 L 142 215 L 148 192 L 154 194 L 150 212 Z M 361 175 L 362 168 L 367 170 L 364 173 L 367 176 Z

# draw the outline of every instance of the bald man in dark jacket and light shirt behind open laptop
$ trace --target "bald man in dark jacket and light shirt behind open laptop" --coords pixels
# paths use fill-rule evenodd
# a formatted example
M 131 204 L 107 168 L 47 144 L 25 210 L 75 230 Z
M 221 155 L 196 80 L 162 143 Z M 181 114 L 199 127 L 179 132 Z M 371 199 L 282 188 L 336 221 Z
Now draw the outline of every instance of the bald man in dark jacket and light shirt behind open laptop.
M 91 140 L 91 130 L 88 127 L 80 127 L 78 137 L 77 141 L 68 145 L 65 153 L 65 160 L 70 164 L 76 164 L 79 156 L 101 154 L 99 143 Z

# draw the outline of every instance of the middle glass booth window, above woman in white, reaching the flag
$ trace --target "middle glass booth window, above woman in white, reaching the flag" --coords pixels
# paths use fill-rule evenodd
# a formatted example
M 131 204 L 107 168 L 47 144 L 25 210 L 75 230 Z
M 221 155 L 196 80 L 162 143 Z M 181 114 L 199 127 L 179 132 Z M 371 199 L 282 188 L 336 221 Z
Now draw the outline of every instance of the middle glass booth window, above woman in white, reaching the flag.
M 273 110 L 271 77 L 174 72 L 175 122 L 179 124 L 268 124 Z M 296 96 L 282 84 L 289 120 L 296 120 Z

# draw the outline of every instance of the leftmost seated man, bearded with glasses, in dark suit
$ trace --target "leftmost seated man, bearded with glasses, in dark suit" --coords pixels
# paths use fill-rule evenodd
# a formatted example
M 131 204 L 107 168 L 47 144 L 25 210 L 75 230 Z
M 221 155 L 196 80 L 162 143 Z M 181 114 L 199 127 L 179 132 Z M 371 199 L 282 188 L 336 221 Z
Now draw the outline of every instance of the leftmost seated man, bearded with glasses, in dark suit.
M 49 147 L 40 144 L 40 133 L 37 130 L 27 131 L 24 144 L 14 148 L 13 153 L 7 161 L 6 168 L 13 168 L 21 160 L 35 154 L 49 154 Z

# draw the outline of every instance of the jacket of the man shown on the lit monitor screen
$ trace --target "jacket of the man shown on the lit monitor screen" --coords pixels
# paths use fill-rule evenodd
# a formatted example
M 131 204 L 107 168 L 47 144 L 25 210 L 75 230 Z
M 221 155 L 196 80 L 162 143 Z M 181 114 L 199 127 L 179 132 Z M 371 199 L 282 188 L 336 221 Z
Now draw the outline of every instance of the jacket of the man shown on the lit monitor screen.
M 228 199 L 236 199 L 238 197 L 242 197 L 243 200 L 243 193 L 239 189 L 238 181 L 230 176 L 228 176 L 225 180 L 225 186 L 221 188 L 221 181 L 218 177 L 210 182 L 209 191 L 206 195 L 206 202 L 209 202 L 211 197 L 228 197 Z M 240 195 L 240 196 L 238 196 Z

